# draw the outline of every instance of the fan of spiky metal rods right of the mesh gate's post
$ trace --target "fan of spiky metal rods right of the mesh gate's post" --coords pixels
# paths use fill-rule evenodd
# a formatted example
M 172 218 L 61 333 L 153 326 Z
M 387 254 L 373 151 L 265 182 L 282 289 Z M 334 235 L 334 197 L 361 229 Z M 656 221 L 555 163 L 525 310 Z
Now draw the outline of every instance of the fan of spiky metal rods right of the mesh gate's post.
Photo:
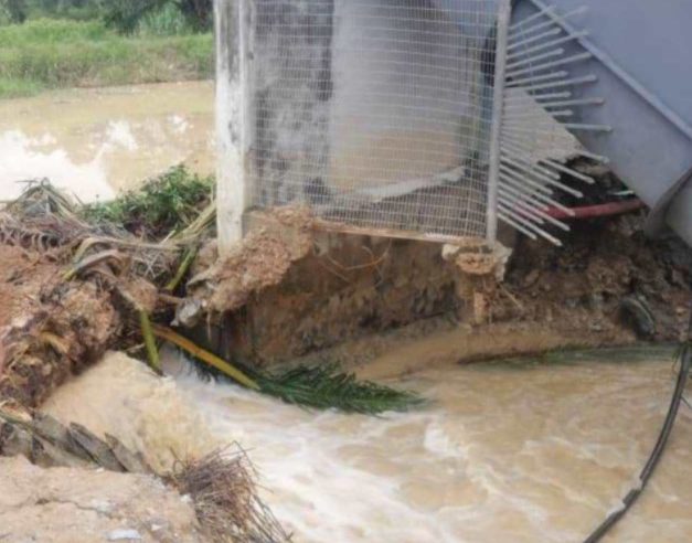
M 569 159 L 577 156 L 607 162 L 589 153 L 571 134 L 608 132 L 610 127 L 581 120 L 584 109 L 603 99 L 582 96 L 596 82 L 573 75 L 590 53 L 578 43 L 583 32 L 571 30 L 567 18 L 554 8 L 540 10 L 509 26 L 505 85 L 500 135 L 498 217 L 532 238 L 560 245 L 558 230 L 567 224 L 552 216 L 554 210 L 569 215 L 558 193 L 581 198 L 581 183 L 594 179 L 575 171 Z M 576 183 L 575 183 L 576 182 Z

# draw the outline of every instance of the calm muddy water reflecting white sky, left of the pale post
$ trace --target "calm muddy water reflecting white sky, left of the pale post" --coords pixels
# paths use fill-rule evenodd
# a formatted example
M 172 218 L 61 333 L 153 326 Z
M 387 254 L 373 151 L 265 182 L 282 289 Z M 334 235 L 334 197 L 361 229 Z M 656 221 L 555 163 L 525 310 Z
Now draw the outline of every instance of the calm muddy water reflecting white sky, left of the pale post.
M 213 87 L 187 82 L 0 100 L 0 200 L 34 178 L 94 201 L 180 162 L 211 173 Z

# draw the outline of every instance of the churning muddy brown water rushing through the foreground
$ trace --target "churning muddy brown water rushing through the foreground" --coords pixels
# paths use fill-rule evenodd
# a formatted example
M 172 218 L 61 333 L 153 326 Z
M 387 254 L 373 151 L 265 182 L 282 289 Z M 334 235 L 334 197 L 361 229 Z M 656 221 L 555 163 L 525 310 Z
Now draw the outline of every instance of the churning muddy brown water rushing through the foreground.
M 581 542 L 635 486 L 674 382 L 666 349 L 449 364 L 388 380 L 430 404 L 374 418 L 201 381 L 177 354 L 164 382 L 121 362 L 47 408 L 160 455 L 238 441 L 295 541 L 320 543 Z M 691 444 L 683 406 L 650 487 L 606 541 L 692 541 Z

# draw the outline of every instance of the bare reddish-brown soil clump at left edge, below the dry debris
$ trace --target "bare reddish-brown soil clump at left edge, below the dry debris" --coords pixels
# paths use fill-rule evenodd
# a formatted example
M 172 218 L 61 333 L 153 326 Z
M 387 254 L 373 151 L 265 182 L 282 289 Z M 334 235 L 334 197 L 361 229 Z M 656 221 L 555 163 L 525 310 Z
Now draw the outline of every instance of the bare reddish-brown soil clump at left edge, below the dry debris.
M 64 280 L 65 260 L 0 245 L 0 398 L 35 407 L 119 339 L 98 281 Z

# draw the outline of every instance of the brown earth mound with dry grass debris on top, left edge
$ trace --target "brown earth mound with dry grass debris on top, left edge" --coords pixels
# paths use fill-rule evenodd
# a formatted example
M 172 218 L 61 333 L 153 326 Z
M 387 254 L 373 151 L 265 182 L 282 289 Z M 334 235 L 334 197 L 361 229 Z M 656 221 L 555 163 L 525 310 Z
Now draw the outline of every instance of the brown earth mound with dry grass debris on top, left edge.
M 210 214 L 203 215 L 184 237 L 150 242 L 88 220 L 78 201 L 46 180 L 28 182 L 19 199 L 0 206 L 0 245 L 34 263 L 3 268 L 0 326 L 11 328 L 2 332 L 0 396 L 39 405 L 116 341 L 139 341 L 129 316 L 158 308 L 159 288 L 209 234 Z

